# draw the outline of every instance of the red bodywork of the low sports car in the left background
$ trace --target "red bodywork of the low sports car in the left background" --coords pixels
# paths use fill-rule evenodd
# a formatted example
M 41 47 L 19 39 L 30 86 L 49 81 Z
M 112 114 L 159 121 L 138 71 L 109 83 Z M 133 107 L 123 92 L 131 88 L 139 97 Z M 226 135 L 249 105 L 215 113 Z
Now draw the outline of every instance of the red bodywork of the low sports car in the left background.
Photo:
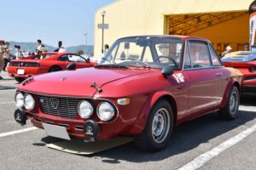
M 51 55 L 49 58 L 46 59 L 35 59 L 38 54 L 32 55 L 26 58 L 21 59 L 13 59 L 10 62 L 16 63 L 16 65 L 12 66 L 9 65 L 7 67 L 7 71 L 9 72 L 9 77 L 32 77 L 39 74 L 44 74 L 50 71 L 50 68 L 53 66 L 58 66 L 61 68 L 61 70 L 67 70 L 67 65 L 69 65 L 70 61 L 60 61 L 61 56 L 66 54 L 72 54 L 72 53 L 44 53 L 44 55 Z M 74 54 L 77 55 L 77 54 Z M 22 66 L 18 65 L 18 63 L 28 63 L 28 64 L 37 64 L 37 66 Z M 85 67 L 91 67 L 95 66 L 96 63 L 91 62 L 84 62 L 84 63 L 76 63 L 77 68 L 85 68 Z M 24 74 L 18 74 L 18 69 L 24 70 Z

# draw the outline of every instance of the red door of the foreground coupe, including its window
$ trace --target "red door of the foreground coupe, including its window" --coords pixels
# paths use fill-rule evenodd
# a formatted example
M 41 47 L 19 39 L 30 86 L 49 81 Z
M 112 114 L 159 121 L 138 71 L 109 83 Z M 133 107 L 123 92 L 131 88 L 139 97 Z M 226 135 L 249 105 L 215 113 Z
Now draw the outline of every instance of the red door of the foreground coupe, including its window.
M 199 116 L 212 111 L 218 104 L 221 75 L 212 66 L 208 43 L 189 40 L 188 59 L 184 59 L 183 74 L 189 82 L 186 116 Z M 184 55 L 186 57 L 186 55 Z

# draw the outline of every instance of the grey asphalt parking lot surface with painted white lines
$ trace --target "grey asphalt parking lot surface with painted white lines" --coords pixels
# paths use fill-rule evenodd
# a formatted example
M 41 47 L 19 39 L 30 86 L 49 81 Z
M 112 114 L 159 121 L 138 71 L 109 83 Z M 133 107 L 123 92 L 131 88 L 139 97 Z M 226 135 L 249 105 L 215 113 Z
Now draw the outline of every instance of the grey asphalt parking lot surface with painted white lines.
M 59 139 L 14 120 L 17 83 L 2 72 L 0 80 L 0 169 L 256 169 L 256 95 L 241 98 L 236 120 L 216 113 L 175 127 L 166 149 L 145 153 L 125 144 L 91 156 L 49 149 Z M 26 132 L 24 132 L 26 131 Z

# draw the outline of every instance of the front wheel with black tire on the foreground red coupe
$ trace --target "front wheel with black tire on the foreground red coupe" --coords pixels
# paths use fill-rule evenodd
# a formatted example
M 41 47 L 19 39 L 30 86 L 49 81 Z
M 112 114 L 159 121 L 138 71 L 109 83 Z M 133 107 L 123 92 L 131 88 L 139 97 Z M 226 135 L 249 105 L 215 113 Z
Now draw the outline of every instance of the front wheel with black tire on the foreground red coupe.
M 150 111 L 143 133 L 135 137 L 134 144 L 148 152 L 165 148 L 171 139 L 173 122 L 172 106 L 164 99 L 159 100 Z

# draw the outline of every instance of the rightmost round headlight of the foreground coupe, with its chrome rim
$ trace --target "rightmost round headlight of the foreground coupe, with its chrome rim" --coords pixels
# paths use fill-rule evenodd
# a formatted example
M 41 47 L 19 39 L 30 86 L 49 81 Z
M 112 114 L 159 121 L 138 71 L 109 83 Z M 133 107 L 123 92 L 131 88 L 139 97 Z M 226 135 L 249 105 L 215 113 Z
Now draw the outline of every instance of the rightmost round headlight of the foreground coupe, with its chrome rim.
M 102 112 L 102 108 L 103 106 L 107 106 L 107 109 L 109 110 L 108 115 L 103 115 L 104 113 Z M 106 110 L 106 108 L 105 108 Z M 105 112 L 106 114 L 106 112 Z M 103 121 L 103 122 L 109 122 L 113 119 L 113 117 L 116 115 L 116 108 L 113 104 L 111 104 L 110 102 L 107 101 L 103 101 L 101 102 L 98 106 L 97 106 L 97 116 Z

